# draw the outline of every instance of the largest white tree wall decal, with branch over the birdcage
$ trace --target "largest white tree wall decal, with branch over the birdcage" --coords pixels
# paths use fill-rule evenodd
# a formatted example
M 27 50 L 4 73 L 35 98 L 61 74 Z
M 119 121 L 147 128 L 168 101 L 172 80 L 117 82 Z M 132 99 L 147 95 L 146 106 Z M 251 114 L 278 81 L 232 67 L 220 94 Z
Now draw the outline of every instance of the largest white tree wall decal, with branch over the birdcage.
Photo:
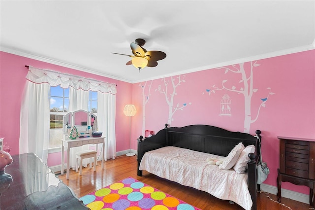
M 251 124 L 258 119 L 261 107 L 265 107 L 269 96 L 274 94 L 273 92 L 271 92 L 271 88 L 267 87 L 267 89 L 269 90 L 269 93 L 267 94 L 267 96 L 260 99 L 261 103 L 258 107 L 257 114 L 255 117 L 252 117 L 252 110 L 251 110 L 251 108 L 252 108 L 252 104 L 251 104 L 252 103 L 252 96 L 254 93 L 256 93 L 258 91 L 258 89 L 253 88 L 253 69 L 255 67 L 260 66 L 260 64 L 257 64 L 257 61 L 254 61 L 254 62 L 251 61 L 250 64 L 251 64 L 251 67 L 249 70 L 249 75 L 246 75 L 244 63 L 240 63 L 238 65 L 232 65 L 232 68 L 229 68 L 229 67 L 218 68 L 218 69 L 225 70 L 224 74 L 226 74 L 227 72 L 232 72 L 232 73 L 236 73 L 236 74 L 241 75 L 241 80 L 239 80 L 239 83 L 242 83 L 243 86 L 239 90 L 236 89 L 236 87 L 234 85 L 232 85 L 232 87 L 230 87 L 230 88 L 224 86 L 224 83 L 227 82 L 227 79 L 222 81 L 220 88 L 216 87 L 216 85 L 213 85 L 211 89 L 206 89 L 206 91 L 208 92 L 209 95 L 211 93 L 215 93 L 216 91 L 220 91 L 220 90 L 231 91 L 231 92 L 236 92 L 238 94 L 243 94 L 244 101 L 245 101 L 245 103 L 244 103 L 245 104 L 244 133 L 250 132 Z

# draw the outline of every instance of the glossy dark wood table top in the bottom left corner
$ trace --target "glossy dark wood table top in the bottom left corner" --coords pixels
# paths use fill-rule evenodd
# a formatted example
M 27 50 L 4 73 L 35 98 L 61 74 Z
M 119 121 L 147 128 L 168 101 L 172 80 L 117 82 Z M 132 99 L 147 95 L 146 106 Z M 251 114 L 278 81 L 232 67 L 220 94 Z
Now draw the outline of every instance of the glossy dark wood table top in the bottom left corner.
M 2 189 L 5 184 L 1 182 L 0 210 L 88 209 L 36 155 L 27 153 L 12 158 L 5 173 L 13 180 L 7 189 Z

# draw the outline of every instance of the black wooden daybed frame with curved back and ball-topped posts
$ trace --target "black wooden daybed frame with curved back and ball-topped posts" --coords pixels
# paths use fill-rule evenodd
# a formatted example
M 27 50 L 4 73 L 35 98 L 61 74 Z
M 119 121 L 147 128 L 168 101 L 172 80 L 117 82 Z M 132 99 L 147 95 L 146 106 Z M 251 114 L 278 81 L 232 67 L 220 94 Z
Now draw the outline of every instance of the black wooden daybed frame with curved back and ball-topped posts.
M 260 131 L 256 131 L 256 135 L 260 137 Z M 142 176 L 139 170 L 141 159 L 145 152 L 158 149 L 164 146 L 177 146 L 195 151 L 227 156 L 229 152 L 242 142 L 244 146 L 250 144 L 255 145 L 255 154 L 249 155 L 251 161 L 248 163 L 249 190 L 252 196 L 252 210 L 256 209 L 257 197 L 257 162 L 260 154 L 256 137 L 241 132 L 231 132 L 222 128 L 210 125 L 189 125 L 185 127 L 171 127 L 160 130 L 156 135 L 138 139 L 138 175 Z

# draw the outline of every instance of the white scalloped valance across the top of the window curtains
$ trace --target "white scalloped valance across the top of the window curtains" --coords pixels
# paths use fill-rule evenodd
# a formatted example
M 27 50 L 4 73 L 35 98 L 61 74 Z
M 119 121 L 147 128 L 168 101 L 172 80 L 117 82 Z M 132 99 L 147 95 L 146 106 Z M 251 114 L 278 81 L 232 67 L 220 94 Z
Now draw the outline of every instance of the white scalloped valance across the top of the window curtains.
M 94 79 L 79 77 L 72 74 L 61 73 L 53 70 L 43 70 L 29 67 L 26 78 L 36 84 L 48 83 L 50 86 L 60 85 L 62 88 L 69 86 L 74 89 L 82 89 L 85 91 L 92 90 L 95 92 L 116 94 L 116 84 L 97 81 Z

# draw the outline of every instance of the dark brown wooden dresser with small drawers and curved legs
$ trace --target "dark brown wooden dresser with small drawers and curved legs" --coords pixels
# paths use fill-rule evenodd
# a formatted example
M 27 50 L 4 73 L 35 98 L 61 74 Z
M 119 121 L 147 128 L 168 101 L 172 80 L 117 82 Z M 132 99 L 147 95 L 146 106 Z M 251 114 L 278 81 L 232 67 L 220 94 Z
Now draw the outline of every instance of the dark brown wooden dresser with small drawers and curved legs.
M 278 137 L 280 168 L 278 169 L 278 202 L 281 202 L 281 183 L 288 181 L 310 188 L 310 205 L 315 193 L 315 140 Z M 314 207 L 314 206 L 313 206 Z

